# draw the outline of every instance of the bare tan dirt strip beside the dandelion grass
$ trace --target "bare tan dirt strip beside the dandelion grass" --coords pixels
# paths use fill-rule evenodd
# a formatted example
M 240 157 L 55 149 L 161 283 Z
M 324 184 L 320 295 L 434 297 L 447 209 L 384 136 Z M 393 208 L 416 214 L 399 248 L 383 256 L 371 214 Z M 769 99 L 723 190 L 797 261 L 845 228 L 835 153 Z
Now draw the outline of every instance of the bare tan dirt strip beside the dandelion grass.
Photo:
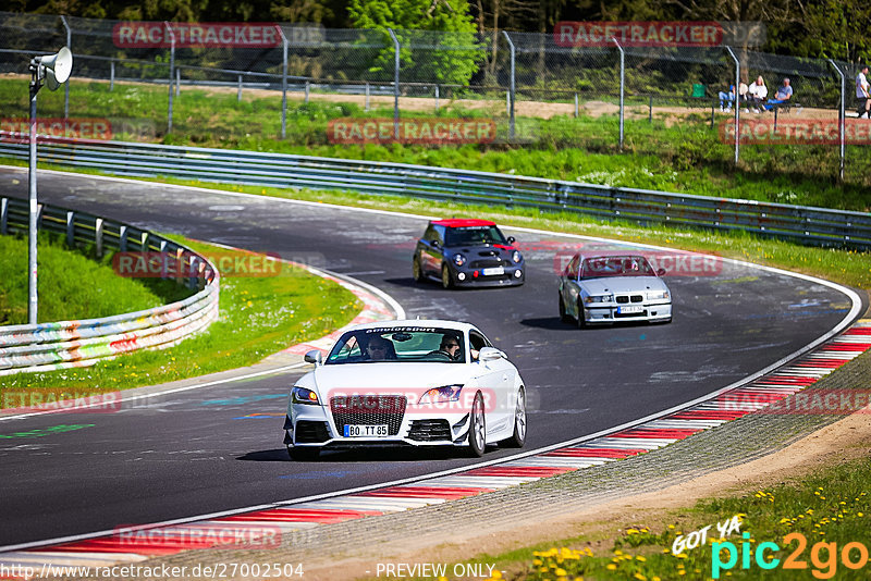
M 306 579 L 372 578 L 378 563 L 456 563 L 480 554 L 496 555 L 506 551 L 553 543 L 585 534 L 610 537 L 630 524 L 655 528 L 671 520 L 670 514 L 692 506 L 706 497 L 755 492 L 776 484 L 787 484 L 819 469 L 871 456 L 871 417 L 857 413 L 845 418 L 786 448 L 743 466 L 712 472 L 654 493 L 612 500 L 559 519 L 520 520 L 505 530 L 488 529 L 487 522 L 457 524 L 450 543 L 403 535 L 390 544 L 371 547 L 353 559 L 332 559 L 328 564 L 306 566 Z M 596 551 L 596 545 L 593 545 Z M 370 571 L 368 574 L 366 571 Z

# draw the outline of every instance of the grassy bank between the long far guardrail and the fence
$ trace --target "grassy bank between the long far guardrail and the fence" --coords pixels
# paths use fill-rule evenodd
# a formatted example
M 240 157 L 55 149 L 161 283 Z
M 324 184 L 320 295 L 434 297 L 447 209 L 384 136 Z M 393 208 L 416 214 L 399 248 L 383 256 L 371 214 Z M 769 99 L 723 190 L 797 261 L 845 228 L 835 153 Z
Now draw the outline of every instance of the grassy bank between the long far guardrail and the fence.
M 61 116 L 62 91 L 40 94 L 40 116 Z M 295 97 L 298 97 L 295 96 Z M 709 115 L 654 114 L 626 122 L 624 153 L 617 150 L 618 123 L 614 115 L 550 120 L 518 118 L 531 143 L 504 143 L 427 147 L 419 145 L 331 145 L 330 120 L 392 118 L 391 109 L 363 110 L 354 102 L 305 104 L 289 100 L 287 137 L 280 133 L 281 97 L 183 89 L 174 101 L 173 133 L 165 135 L 167 90 L 149 85 L 116 85 L 79 82 L 71 90 L 71 115 L 112 121 L 115 138 L 132 139 L 149 127 L 146 140 L 170 145 L 194 145 L 278 151 L 346 159 L 396 161 L 424 165 L 515 173 L 538 177 L 580 181 L 612 186 L 639 187 L 676 193 L 746 198 L 760 201 L 821 206 L 868 211 L 871 208 L 871 152 L 866 147 L 847 148 L 845 183 L 836 181 L 835 146 L 744 146 L 741 162 L 733 165 L 733 148 L 721 143 Z M 27 115 L 26 83 L 0 81 L 0 106 L 10 116 Z M 431 112 L 404 111 L 403 118 L 432 116 Z M 442 116 L 490 116 L 504 128 L 504 108 L 494 111 L 444 107 Z M 726 116 L 717 118 L 725 121 Z M 126 129 L 125 129 L 126 128 Z M 121 133 L 118 133 L 120 131 Z

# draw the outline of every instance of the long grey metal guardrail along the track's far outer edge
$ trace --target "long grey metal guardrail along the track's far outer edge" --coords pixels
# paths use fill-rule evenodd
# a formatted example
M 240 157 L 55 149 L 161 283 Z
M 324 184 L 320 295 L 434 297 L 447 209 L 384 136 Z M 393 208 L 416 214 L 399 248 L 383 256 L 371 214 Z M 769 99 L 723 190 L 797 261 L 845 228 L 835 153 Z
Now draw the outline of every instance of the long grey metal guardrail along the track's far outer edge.
M 3 140 L 5 139 L 5 141 Z M 0 132 L 0 157 L 26 160 L 19 134 Z M 803 244 L 871 248 L 871 214 L 670 194 L 426 165 L 123 141 L 40 139 L 39 159 L 115 175 L 392 194 L 569 211 L 642 225 L 743 231 Z

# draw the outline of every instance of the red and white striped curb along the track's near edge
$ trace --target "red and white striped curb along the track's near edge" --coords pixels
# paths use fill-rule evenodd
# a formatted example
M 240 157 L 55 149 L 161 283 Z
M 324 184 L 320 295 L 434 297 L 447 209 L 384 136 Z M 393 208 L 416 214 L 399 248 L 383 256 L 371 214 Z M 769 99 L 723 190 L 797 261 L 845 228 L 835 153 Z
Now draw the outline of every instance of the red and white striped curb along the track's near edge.
M 312 342 L 309 346 L 318 348 L 320 344 Z M 871 320 L 861 320 L 822 347 L 746 385 L 687 409 L 577 445 L 416 482 L 308 502 L 267 505 L 247 511 L 214 515 L 194 522 L 156 526 L 148 530 L 148 534 L 107 534 L 1 553 L 0 566 L 5 566 L 7 570 L 15 566 L 37 567 L 38 570 L 46 564 L 109 566 L 138 563 L 183 551 L 224 548 L 228 543 L 246 548 L 245 542 L 250 541 L 252 531 L 300 534 L 322 524 L 486 494 L 667 446 L 800 392 L 869 349 Z M 220 534 L 214 531 L 220 531 Z

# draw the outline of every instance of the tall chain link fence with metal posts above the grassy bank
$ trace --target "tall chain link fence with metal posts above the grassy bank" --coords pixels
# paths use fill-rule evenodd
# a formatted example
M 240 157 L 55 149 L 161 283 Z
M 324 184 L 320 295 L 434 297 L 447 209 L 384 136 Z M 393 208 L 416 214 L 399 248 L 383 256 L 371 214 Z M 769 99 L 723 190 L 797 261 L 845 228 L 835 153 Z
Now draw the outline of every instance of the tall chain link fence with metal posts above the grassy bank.
M 764 170 L 788 164 L 790 148 L 777 145 L 801 143 L 819 151 L 817 166 L 805 173 L 855 181 L 871 170 L 854 145 L 862 143 L 854 119 L 858 71 L 848 63 L 616 40 L 567 47 L 531 33 L 305 25 L 263 25 L 256 42 L 196 42 L 192 26 L 0 12 L 4 115 L 27 114 L 29 59 L 69 42 L 69 95 L 40 95 L 39 116 L 69 118 L 72 102 L 74 118 L 107 120 L 116 139 L 244 145 L 255 136 L 317 145 L 330 141 L 334 120 L 373 119 L 394 124 L 392 135 L 382 131 L 373 139 L 382 143 L 400 135 L 404 120 L 477 119 L 492 125 L 486 140 L 496 145 L 623 150 L 671 157 L 682 168 L 740 161 Z M 759 113 L 741 102 L 736 115 L 731 85 L 760 75 L 769 99 L 788 77 L 792 100 Z M 208 107 L 233 101 L 237 114 Z M 672 150 L 651 138 L 663 132 L 672 135 Z M 700 135 L 708 136 L 703 147 Z

